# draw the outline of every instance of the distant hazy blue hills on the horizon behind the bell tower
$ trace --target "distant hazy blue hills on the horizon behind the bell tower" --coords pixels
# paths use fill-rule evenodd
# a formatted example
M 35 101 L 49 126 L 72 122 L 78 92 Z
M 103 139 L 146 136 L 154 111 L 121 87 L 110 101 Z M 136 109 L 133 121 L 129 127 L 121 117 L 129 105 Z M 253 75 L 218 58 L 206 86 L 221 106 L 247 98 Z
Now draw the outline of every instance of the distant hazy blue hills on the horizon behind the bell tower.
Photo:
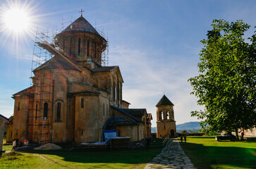
M 182 132 L 183 130 L 186 130 L 187 132 L 198 132 L 200 129 L 201 127 L 198 122 L 188 122 L 176 125 L 177 132 Z M 157 132 L 157 127 L 151 127 L 151 132 Z

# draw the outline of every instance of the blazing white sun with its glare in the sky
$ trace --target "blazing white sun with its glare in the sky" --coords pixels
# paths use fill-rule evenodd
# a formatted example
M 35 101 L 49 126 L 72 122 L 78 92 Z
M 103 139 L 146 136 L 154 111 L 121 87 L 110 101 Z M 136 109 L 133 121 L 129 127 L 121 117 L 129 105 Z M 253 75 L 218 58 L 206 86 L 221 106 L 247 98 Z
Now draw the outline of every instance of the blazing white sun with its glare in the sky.
M 35 5 L 32 1 L 6 0 L 0 5 L 0 34 L 1 39 L 12 37 L 15 41 L 31 39 L 35 35 L 37 25 Z

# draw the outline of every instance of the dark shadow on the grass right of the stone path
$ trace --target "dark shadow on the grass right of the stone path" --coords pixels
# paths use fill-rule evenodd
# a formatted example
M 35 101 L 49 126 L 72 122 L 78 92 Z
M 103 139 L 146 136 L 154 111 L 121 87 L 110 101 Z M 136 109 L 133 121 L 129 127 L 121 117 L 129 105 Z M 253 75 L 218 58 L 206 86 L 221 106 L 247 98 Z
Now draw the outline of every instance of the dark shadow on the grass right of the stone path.
M 233 146 L 203 146 L 186 143 L 181 145 L 196 168 L 232 166 L 256 168 L 256 149 Z

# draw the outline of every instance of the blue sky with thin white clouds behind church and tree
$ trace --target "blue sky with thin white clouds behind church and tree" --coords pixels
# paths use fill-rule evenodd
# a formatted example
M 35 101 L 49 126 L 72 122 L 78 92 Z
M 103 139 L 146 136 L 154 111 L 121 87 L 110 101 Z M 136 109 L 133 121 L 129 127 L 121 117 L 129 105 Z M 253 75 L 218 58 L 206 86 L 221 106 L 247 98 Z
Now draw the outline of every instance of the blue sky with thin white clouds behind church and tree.
M 13 1 L 15 2 L 15 1 Z M 123 99 L 130 108 L 147 108 L 156 126 L 155 105 L 165 93 L 173 102 L 176 124 L 197 121 L 190 111 L 199 110 L 190 95 L 188 78 L 197 75 L 202 44 L 213 19 L 256 25 L 256 1 L 18 1 L 30 6 L 32 31 L 18 42 L 0 31 L 0 113 L 13 114 L 12 94 L 30 87 L 35 30 L 61 27 L 83 16 L 109 37 L 109 65 L 119 65 L 123 75 Z M 6 6 L 0 0 L 0 8 Z M 0 17 L 3 15 L 0 11 Z M 1 19 L 0 19 L 1 20 Z M 68 25 L 66 25 L 68 26 Z

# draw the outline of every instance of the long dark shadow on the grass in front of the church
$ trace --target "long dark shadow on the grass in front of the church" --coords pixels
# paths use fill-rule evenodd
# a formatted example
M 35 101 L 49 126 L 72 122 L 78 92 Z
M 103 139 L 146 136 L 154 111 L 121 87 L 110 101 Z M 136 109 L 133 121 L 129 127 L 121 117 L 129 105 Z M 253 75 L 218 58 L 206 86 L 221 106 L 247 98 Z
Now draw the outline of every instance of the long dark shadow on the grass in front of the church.
M 30 154 L 53 155 L 61 157 L 61 161 L 70 161 L 76 163 L 130 163 L 140 164 L 148 163 L 149 161 L 160 154 L 163 148 L 162 143 L 151 145 L 150 149 L 126 149 L 126 150 L 84 150 L 75 149 L 68 151 L 68 149 L 61 149 L 59 151 L 23 151 Z M 51 156 L 45 156 L 51 160 Z M 58 158 L 58 157 L 57 157 Z

